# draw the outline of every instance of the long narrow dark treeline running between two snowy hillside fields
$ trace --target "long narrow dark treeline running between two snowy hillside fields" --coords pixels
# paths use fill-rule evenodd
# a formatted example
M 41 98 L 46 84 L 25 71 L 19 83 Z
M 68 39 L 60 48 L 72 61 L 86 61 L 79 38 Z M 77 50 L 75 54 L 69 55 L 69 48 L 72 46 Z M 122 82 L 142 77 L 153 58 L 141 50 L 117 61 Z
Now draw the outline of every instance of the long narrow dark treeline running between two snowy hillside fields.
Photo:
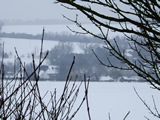
M 41 39 L 41 34 L 32 35 L 32 34 L 26 34 L 26 33 L 5 33 L 0 32 L 0 37 L 7 37 L 7 38 L 18 38 L 18 39 Z M 45 40 L 53 40 L 53 41 L 61 41 L 61 42 L 96 42 L 99 43 L 100 41 L 97 40 L 95 37 L 89 37 L 85 35 L 79 35 L 79 34 L 65 34 L 65 33 L 45 33 L 44 36 Z

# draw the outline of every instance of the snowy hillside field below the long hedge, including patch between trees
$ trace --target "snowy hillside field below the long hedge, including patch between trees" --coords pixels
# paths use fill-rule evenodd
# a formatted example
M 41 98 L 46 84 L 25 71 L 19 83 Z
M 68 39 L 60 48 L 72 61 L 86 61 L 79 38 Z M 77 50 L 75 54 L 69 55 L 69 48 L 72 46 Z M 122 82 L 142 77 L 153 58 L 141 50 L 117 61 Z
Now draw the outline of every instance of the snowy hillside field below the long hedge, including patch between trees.
M 15 39 L 15 38 L 0 38 L 0 43 L 4 43 L 4 51 L 11 53 L 9 59 L 5 59 L 4 62 L 13 62 L 15 57 L 15 48 L 25 63 L 32 62 L 31 55 L 38 56 L 40 53 L 41 40 L 27 40 L 27 39 Z M 44 40 L 43 52 L 51 50 L 55 45 L 58 45 L 59 41 Z M 69 43 L 73 47 L 73 53 L 82 53 L 78 42 Z

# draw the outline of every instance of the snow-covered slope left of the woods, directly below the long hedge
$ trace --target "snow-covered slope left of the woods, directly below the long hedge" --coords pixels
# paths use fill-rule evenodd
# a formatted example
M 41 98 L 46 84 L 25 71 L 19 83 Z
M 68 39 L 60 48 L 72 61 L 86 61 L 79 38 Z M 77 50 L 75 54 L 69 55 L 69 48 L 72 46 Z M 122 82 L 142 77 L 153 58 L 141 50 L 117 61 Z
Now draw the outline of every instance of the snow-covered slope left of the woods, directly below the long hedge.
M 38 54 L 40 52 L 41 40 L 28 40 L 28 39 L 16 39 L 16 38 L 1 38 L 0 42 L 4 42 L 4 51 L 9 53 L 15 51 L 14 48 L 18 51 L 18 54 L 26 55 L 26 54 Z M 44 40 L 43 50 L 51 50 L 57 45 L 58 41 L 49 41 Z

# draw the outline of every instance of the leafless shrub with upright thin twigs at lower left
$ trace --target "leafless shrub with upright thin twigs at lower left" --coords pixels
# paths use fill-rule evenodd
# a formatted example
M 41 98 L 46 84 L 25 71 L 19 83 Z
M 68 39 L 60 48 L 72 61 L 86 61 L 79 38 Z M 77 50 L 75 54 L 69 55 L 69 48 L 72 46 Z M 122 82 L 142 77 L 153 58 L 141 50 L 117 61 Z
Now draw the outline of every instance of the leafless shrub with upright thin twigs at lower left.
M 35 64 L 34 54 L 32 55 L 33 72 L 27 73 L 25 63 L 22 62 L 15 49 L 19 61 L 18 68 L 15 68 L 14 77 L 11 80 L 5 80 L 4 50 L 2 51 L 2 61 L 0 67 L 0 119 L 2 120 L 71 120 L 75 117 L 84 101 L 87 99 L 88 81 L 84 77 L 85 93 L 82 100 L 77 103 L 78 93 L 83 83 L 76 83 L 71 76 L 71 71 L 75 63 L 73 58 L 71 67 L 66 77 L 65 85 L 61 95 L 57 95 L 56 89 L 50 93 L 48 101 L 44 100 L 47 90 L 42 96 L 39 87 L 39 73 L 41 65 L 48 56 L 47 51 L 43 57 L 43 39 L 42 34 L 41 52 L 39 63 Z M 71 80 L 73 82 L 71 82 Z M 59 98 L 57 96 L 60 96 Z M 87 100 L 88 101 L 88 100 Z M 74 107 L 74 104 L 79 104 Z M 77 105 L 76 105 L 77 106 Z

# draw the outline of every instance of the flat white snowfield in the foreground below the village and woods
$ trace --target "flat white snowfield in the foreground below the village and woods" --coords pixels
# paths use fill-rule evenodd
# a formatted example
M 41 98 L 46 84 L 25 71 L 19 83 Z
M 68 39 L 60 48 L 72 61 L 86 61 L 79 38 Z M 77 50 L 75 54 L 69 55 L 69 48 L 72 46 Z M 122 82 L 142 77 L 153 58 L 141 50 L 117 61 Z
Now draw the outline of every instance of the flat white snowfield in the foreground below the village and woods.
M 62 92 L 64 82 L 40 82 L 42 95 L 46 90 L 58 93 Z M 160 105 L 160 94 L 153 90 L 147 83 L 107 83 L 107 82 L 90 82 L 89 86 L 89 105 L 92 120 L 123 120 L 125 115 L 130 111 L 126 120 L 158 120 L 153 117 L 144 104 L 140 101 L 134 91 L 136 88 L 138 94 L 144 99 L 151 109 L 154 109 L 152 95 L 155 98 L 157 106 Z M 81 87 L 77 103 L 80 103 L 84 95 L 84 86 Z M 49 98 L 49 97 L 48 97 Z M 88 120 L 86 104 L 84 103 L 74 120 Z

